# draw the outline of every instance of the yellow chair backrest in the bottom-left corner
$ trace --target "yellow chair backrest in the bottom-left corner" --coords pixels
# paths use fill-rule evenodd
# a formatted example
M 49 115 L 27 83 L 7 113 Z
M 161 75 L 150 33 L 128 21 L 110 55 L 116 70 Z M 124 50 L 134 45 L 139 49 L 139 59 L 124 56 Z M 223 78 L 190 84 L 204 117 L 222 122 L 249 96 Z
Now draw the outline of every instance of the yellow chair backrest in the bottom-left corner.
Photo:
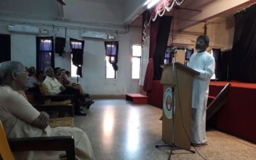
M 3 159 L 10 159 L 10 160 L 14 160 L 14 157 L 13 157 L 13 154 L 12 154 L 12 151 L 9 147 L 9 144 L 8 144 L 8 141 L 6 139 L 6 135 L 5 135 L 5 132 L 4 132 L 4 127 L 2 125 L 2 122 L 0 120 L 0 154 L 1 154 L 1 157 Z

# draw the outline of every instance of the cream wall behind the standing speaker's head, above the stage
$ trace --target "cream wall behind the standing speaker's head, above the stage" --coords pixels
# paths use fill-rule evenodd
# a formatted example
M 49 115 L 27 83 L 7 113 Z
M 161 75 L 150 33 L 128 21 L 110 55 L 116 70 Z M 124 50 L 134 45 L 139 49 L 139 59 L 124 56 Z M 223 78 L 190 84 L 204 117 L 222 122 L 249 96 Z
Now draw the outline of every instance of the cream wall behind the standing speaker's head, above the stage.
M 204 23 L 185 29 L 183 32 L 172 32 L 169 36 L 168 44 L 195 48 L 196 37 L 204 34 Z M 234 17 L 220 19 L 216 22 L 207 24 L 207 36 L 210 38 L 210 44 L 207 51 L 212 48 L 220 48 L 221 51 L 232 49 L 234 38 Z M 195 51 L 196 52 L 196 51 Z M 177 61 L 184 63 L 184 52 L 179 51 Z

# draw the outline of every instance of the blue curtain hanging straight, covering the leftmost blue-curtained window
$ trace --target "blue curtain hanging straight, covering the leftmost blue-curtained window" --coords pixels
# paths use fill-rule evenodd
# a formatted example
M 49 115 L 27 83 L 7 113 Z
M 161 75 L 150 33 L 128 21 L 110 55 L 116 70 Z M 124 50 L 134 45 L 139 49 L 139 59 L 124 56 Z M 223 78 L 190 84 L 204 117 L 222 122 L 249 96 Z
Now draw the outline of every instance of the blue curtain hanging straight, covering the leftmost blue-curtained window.
M 46 67 L 54 68 L 53 37 L 36 36 L 36 70 L 44 71 Z

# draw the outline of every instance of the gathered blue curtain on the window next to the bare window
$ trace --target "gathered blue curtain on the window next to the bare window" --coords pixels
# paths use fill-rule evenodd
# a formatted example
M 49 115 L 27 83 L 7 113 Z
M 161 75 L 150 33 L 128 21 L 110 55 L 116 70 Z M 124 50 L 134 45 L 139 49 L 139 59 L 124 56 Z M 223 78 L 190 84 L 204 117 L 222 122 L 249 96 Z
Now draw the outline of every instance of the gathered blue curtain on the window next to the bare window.
M 118 70 L 118 42 L 105 42 L 105 50 L 109 63 L 111 63 L 115 71 Z

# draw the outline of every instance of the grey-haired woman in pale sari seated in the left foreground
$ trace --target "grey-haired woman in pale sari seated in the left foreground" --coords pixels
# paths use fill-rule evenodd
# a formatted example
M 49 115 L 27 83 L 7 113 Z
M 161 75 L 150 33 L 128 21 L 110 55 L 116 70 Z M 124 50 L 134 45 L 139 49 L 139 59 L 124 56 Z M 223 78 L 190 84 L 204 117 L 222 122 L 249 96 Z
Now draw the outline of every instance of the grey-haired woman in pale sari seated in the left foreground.
M 39 112 L 16 91 L 26 88 L 28 73 L 22 63 L 0 63 L 0 119 L 8 138 L 40 136 L 73 136 L 77 159 L 94 159 L 93 150 L 86 133 L 78 128 L 51 128 L 49 115 Z M 39 145 L 39 144 L 38 144 Z M 14 153 L 16 159 L 58 159 L 63 152 L 36 151 Z

